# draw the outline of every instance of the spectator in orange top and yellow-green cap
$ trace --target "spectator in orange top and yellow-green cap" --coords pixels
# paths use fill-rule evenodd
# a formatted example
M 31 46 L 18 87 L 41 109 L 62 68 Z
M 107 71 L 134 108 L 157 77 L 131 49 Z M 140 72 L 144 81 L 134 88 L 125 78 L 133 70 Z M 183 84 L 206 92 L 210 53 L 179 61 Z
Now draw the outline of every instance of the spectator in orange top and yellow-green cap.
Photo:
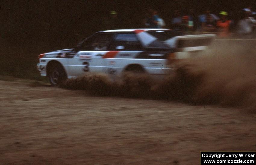
M 229 25 L 231 23 L 230 20 L 227 20 L 227 12 L 221 11 L 220 12 L 220 20 L 217 21 L 216 26 L 218 29 L 220 37 L 226 37 L 227 33 L 229 32 Z

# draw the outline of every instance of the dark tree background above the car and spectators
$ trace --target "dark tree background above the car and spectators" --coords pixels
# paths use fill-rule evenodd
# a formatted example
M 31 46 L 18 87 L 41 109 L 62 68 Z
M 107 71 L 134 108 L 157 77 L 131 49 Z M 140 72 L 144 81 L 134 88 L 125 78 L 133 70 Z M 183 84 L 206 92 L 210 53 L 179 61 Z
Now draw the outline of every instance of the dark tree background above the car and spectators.
M 101 26 L 103 16 L 110 11 L 118 13 L 122 28 L 140 28 L 142 19 L 149 9 L 158 10 L 167 24 L 172 12 L 179 9 L 186 14 L 192 8 L 195 14 L 204 10 L 212 13 L 233 11 L 237 13 L 245 7 L 255 9 L 255 0 L 52 0 L 31 1 L 4 0 L 0 2 L 1 48 L 17 45 L 29 46 L 45 51 L 72 47 L 79 38 L 74 34 L 88 36 L 104 30 Z

